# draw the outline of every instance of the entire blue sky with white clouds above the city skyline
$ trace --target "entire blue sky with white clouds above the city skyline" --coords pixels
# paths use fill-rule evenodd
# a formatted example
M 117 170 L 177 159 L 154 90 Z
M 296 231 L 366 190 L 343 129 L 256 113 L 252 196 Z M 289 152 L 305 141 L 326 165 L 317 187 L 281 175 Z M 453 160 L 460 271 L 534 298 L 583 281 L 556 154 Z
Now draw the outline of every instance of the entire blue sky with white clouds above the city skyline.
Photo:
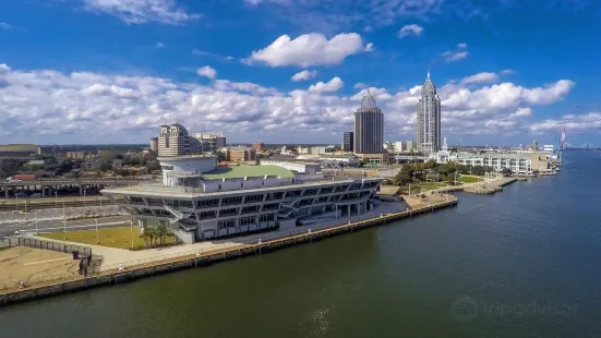
M 598 0 L 27 0 L 0 4 L 0 143 L 339 143 L 366 88 L 416 138 L 601 144 Z

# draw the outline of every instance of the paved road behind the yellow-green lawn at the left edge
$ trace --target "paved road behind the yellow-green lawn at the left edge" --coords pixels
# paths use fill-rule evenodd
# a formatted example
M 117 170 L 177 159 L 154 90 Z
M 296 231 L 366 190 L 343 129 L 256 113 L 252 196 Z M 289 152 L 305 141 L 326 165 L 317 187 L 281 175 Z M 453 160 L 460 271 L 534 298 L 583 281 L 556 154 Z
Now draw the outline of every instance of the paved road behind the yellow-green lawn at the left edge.
M 98 228 L 115 228 L 122 227 L 130 224 L 131 217 L 129 216 L 113 216 L 113 217 L 104 217 L 98 218 Z M 95 229 L 96 222 L 94 219 L 83 219 L 83 220 L 72 220 L 67 222 L 67 230 L 86 230 Z M 63 231 L 64 227 L 62 220 L 52 219 L 52 220 L 39 220 L 37 222 L 38 231 L 43 232 L 57 232 Z M 19 222 L 7 222 L 0 224 L 0 239 L 14 234 L 16 230 L 36 230 L 36 222 L 34 220 L 19 221 Z

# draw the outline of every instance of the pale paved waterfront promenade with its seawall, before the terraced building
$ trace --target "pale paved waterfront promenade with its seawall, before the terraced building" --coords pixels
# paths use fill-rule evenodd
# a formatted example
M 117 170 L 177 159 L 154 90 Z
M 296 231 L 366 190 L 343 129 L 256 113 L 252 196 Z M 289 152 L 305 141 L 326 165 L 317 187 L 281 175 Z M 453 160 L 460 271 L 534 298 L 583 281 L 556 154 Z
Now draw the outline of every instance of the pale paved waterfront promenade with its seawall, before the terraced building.
M 280 229 L 271 233 L 249 236 L 229 241 L 204 242 L 148 251 L 131 252 L 127 250 L 108 249 L 91 245 L 94 254 L 106 255 L 100 273 L 88 278 L 64 276 L 64 278 L 47 278 L 28 285 L 26 289 L 17 289 L 16 285 L 0 285 L 0 304 L 9 304 L 38 297 L 60 294 L 68 291 L 83 290 L 99 285 L 117 283 L 124 280 L 176 270 L 196 267 L 218 261 L 249 254 L 260 254 L 276 249 L 311 242 L 321 238 L 344 232 L 352 232 L 361 228 L 387 224 L 389 221 L 430 213 L 437 208 L 453 206 L 457 197 L 453 195 L 436 195 L 428 204 L 421 203 L 409 209 L 399 210 L 399 203 L 383 203 L 377 210 L 380 215 L 370 213 L 360 218 L 339 219 L 336 224 L 323 224 L 311 228 L 295 227 Z M 387 213 L 385 213 L 387 212 Z M 100 253 L 94 250 L 103 250 Z M 158 253 L 158 255 L 157 255 Z M 137 259 L 127 259 L 135 257 Z

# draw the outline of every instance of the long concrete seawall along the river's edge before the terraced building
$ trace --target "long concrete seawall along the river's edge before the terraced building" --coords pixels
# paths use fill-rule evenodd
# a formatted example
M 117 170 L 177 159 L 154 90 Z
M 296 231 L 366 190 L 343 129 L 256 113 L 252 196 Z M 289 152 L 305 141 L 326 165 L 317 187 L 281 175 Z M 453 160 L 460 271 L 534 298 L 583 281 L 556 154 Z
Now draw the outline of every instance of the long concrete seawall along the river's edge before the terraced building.
M 381 217 L 351 222 L 342 226 L 336 226 L 323 230 L 285 237 L 272 241 L 266 241 L 264 243 L 243 244 L 203 253 L 201 255 L 182 256 L 172 259 L 155 262 L 151 265 L 144 265 L 140 267 L 134 266 L 124 270 L 104 271 L 100 275 L 92 276 L 85 279 L 77 278 L 71 280 L 62 280 L 60 282 L 36 286 L 20 290 L 12 290 L 0 293 L 0 306 L 40 299 L 45 297 L 59 295 L 68 292 L 87 290 L 100 286 L 129 282 L 135 279 L 167 274 L 184 268 L 207 266 L 217 262 L 233 259 L 245 255 L 267 253 L 290 245 L 311 243 L 313 241 L 317 241 L 332 236 L 337 236 L 345 232 L 353 232 L 361 229 L 384 225 L 390 221 L 400 220 L 404 218 L 411 218 L 420 214 L 432 213 L 436 209 L 453 207 L 456 204 L 457 197 L 449 195 L 447 201 L 432 203 L 432 205 L 424 205 L 401 213 L 386 214 L 382 215 Z

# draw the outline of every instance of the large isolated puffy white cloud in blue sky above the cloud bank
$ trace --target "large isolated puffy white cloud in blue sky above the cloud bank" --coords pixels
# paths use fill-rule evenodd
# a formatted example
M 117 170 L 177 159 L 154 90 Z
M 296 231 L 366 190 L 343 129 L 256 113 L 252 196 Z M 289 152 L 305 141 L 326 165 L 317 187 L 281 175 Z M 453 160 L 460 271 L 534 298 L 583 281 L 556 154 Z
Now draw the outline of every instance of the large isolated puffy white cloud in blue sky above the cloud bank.
M 349 56 L 372 49 L 373 45 L 363 45 L 357 33 L 338 34 L 329 40 L 318 33 L 295 39 L 283 35 L 264 49 L 253 51 L 245 62 L 264 62 L 271 67 L 340 64 Z

